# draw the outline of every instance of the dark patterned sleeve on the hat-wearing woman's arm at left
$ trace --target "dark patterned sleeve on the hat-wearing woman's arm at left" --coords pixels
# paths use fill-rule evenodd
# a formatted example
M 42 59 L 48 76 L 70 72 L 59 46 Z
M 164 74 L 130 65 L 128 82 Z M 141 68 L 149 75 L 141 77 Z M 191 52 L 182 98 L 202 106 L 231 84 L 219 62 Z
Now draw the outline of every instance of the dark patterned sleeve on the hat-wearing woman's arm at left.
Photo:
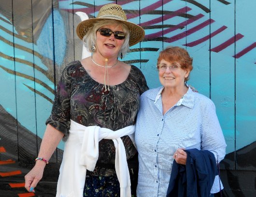
M 46 120 L 46 125 L 50 124 L 57 130 L 68 134 L 70 128 L 70 99 L 71 99 L 71 77 L 69 67 L 66 67 L 57 84 L 54 104 L 50 117 Z

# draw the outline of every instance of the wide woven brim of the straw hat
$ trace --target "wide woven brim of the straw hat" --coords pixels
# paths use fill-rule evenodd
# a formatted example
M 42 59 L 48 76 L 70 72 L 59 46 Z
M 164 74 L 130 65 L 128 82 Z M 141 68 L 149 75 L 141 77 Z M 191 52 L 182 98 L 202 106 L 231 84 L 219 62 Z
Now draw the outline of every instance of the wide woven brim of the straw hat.
M 129 31 L 130 31 L 130 38 L 129 38 L 129 46 L 132 46 L 134 44 L 137 44 L 138 42 L 142 41 L 142 39 L 145 36 L 145 31 L 141 26 L 138 26 L 134 23 L 124 21 L 124 20 L 118 20 L 118 19 L 111 19 L 111 18 L 89 18 L 87 20 L 84 20 L 80 22 L 76 28 L 76 33 L 78 37 L 83 40 L 85 34 L 88 32 L 89 28 L 93 26 L 93 24 L 96 21 L 100 20 L 116 20 L 124 23 Z

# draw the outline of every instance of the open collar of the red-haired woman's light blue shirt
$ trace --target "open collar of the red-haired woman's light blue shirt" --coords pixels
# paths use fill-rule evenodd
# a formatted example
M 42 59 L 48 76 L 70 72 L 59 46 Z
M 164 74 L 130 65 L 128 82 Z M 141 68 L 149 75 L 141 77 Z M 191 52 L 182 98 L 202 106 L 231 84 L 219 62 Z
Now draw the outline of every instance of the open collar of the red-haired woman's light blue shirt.
M 164 89 L 164 86 L 157 88 L 154 93 L 152 92 L 153 94 L 148 95 L 148 98 L 155 100 L 154 103 L 156 104 L 157 100 L 161 98 L 161 93 L 163 89 Z M 186 94 L 177 102 L 176 106 L 184 105 L 186 107 L 193 109 L 194 101 L 195 101 L 195 92 L 193 92 L 192 89 L 188 86 L 188 90 Z

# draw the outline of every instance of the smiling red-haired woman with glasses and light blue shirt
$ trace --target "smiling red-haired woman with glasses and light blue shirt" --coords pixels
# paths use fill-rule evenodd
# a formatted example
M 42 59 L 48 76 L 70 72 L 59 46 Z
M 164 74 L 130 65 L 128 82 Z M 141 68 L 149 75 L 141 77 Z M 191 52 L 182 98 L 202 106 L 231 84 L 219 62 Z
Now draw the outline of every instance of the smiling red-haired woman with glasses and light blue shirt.
M 190 152 L 193 152 L 192 154 L 196 152 L 195 155 L 199 158 L 204 158 L 201 155 L 207 154 L 211 157 L 209 162 L 214 163 L 213 169 L 211 166 L 209 169 L 213 172 L 210 173 L 211 180 L 206 180 L 207 185 L 210 185 L 209 194 L 202 195 L 209 197 L 211 188 L 211 193 L 217 193 L 220 186 L 223 188 L 215 173 L 217 160 L 221 161 L 226 154 L 226 143 L 215 113 L 215 106 L 210 99 L 192 91 L 186 85 L 193 67 L 192 58 L 185 49 L 168 47 L 160 52 L 157 69 L 162 86 L 142 94 L 137 115 L 135 130 L 135 143 L 139 153 L 137 196 L 166 197 L 171 181 L 175 183 L 170 185 L 175 191 L 169 194 L 170 197 L 198 196 L 196 193 L 189 195 L 190 191 L 186 191 L 191 186 L 189 185 L 191 179 L 189 180 L 187 176 L 188 168 L 191 167 L 189 162 L 194 155 Z M 174 163 L 177 168 L 173 176 L 175 173 L 179 174 L 173 177 L 173 181 L 170 177 Z M 180 176 L 184 171 L 178 170 L 186 171 L 185 177 Z M 179 185 L 186 179 L 186 188 L 183 184 Z M 193 178 L 192 180 L 194 184 L 196 180 Z M 200 186 L 203 187 L 203 184 L 199 183 L 198 188 Z M 180 191 L 184 193 L 181 194 Z

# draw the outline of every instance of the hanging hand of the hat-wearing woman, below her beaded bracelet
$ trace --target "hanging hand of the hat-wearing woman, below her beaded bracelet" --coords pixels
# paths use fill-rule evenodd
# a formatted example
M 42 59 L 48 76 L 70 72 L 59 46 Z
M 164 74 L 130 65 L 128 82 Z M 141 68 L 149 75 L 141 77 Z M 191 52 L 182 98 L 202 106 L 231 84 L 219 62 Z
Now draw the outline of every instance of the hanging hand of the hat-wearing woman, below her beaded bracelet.
M 28 192 L 35 192 L 34 188 L 43 177 L 43 169 L 45 165 L 46 164 L 43 161 L 37 161 L 34 168 L 32 168 L 25 176 L 25 188 Z

